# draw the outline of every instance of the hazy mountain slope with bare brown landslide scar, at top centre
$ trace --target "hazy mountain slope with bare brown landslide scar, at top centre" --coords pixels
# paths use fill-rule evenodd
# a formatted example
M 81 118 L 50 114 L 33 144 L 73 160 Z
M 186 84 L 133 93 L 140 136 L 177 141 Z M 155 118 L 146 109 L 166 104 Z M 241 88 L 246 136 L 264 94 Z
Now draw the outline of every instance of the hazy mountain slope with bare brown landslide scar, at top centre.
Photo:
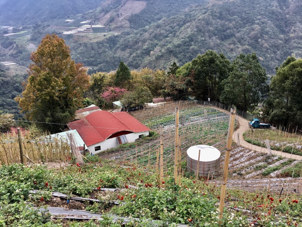
M 164 17 L 171 17 L 184 11 L 192 4 L 206 0 L 106 0 L 100 7 L 84 14 L 85 17 L 109 25 L 111 28 L 137 30 Z

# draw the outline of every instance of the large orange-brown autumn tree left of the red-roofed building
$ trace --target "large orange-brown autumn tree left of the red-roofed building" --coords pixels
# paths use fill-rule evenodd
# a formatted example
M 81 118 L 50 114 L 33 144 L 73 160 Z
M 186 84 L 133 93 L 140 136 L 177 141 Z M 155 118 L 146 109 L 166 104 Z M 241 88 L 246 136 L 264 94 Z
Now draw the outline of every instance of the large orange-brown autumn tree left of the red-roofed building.
M 54 34 L 42 39 L 31 60 L 27 83 L 16 101 L 28 120 L 47 122 L 37 126 L 51 133 L 58 132 L 82 106 L 90 76 L 82 64 L 72 61 L 63 38 Z

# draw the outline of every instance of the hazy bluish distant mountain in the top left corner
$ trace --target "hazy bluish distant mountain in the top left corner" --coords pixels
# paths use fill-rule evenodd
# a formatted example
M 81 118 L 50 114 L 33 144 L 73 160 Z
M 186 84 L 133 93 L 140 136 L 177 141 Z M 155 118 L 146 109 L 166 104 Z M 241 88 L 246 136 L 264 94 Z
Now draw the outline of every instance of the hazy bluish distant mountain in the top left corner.
M 1 25 L 31 25 L 98 7 L 103 0 L 1 0 Z

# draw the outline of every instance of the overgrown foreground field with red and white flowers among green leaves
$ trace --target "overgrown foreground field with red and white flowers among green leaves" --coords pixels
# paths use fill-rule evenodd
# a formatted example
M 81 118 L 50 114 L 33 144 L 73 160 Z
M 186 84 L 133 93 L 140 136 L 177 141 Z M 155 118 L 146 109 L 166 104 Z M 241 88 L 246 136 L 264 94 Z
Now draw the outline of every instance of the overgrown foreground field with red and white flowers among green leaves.
M 220 184 L 200 178 L 183 177 L 174 186 L 172 168 L 165 171 L 163 186 L 152 168 L 100 160 L 85 166 L 47 170 L 44 166 L 26 168 L 19 164 L 0 168 L 0 223 L 2 226 L 218 226 Z M 134 187 L 135 186 L 135 187 Z M 102 187 L 117 188 L 102 191 Z M 37 189 L 37 193 L 32 193 Z M 59 199 L 52 192 L 99 199 L 76 202 Z M 111 205 L 112 201 L 119 205 Z M 63 221 L 38 212 L 34 207 L 59 206 L 103 214 L 98 221 Z M 229 188 L 223 226 L 300 225 L 301 198 L 258 190 Z M 112 217 L 130 217 L 125 225 Z M 139 218 L 139 219 L 135 219 Z M 151 221 L 153 220 L 153 221 Z

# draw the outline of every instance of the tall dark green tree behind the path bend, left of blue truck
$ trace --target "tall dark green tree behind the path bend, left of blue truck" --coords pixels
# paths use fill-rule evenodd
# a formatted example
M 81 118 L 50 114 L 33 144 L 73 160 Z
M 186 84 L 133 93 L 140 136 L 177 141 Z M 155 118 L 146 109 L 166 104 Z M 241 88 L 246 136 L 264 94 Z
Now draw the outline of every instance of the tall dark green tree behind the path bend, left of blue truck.
M 267 74 L 252 54 L 239 54 L 231 65 L 230 76 L 224 80 L 220 100 L 239 110 L 252 111 L 268 92 Z

